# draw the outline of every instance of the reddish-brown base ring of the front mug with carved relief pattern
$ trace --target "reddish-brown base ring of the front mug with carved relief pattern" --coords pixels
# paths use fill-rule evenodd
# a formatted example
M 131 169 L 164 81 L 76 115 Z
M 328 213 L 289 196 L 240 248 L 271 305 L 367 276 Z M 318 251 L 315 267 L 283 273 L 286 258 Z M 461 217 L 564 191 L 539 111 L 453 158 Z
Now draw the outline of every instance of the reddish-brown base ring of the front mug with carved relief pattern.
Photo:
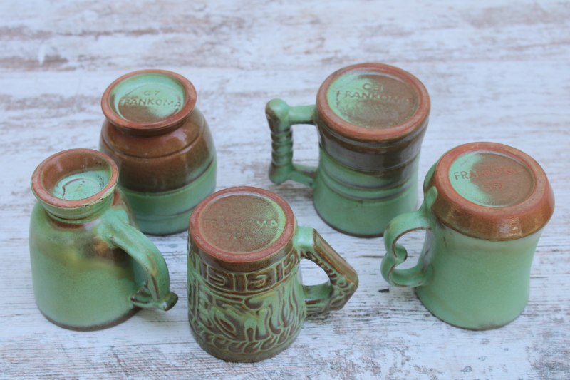
M 270 200 L 276 202 L 283 210 L 285 215 L 284 231 L 275 242 L 269 245 L 269 247 L 265 247 L 264 249 L 255 252 L 236 254 L 219 250 L 218 247 L 214 247 L 214 245 L 210 244 L 202 235 L 199 228 L 199 221 L 201 213 L 209 203 L 220 197 L 237 194 L 251 194 L 268 197 Z M 279 195 L 276 195 L 274 192 L 249 186 L 227 188 L 209 195 L 209 197 L 202 200 L 202 202 L 200 202 L 192 212 L 192 215 L 190 216 L 188 235 L 189 245 L 191 245 L 191 247 L 189 247 L 189 251 L 197 252 L 200 259 L 217 269 L 229 270 L 232 272 L 254 272 L 281 260 L 294 249 L 292 238 L 295 225 L 296 221 L 293 215 L 293 210 L 291 210 L 289 204 L 287 204 L 282 197 L 279 197 Z

